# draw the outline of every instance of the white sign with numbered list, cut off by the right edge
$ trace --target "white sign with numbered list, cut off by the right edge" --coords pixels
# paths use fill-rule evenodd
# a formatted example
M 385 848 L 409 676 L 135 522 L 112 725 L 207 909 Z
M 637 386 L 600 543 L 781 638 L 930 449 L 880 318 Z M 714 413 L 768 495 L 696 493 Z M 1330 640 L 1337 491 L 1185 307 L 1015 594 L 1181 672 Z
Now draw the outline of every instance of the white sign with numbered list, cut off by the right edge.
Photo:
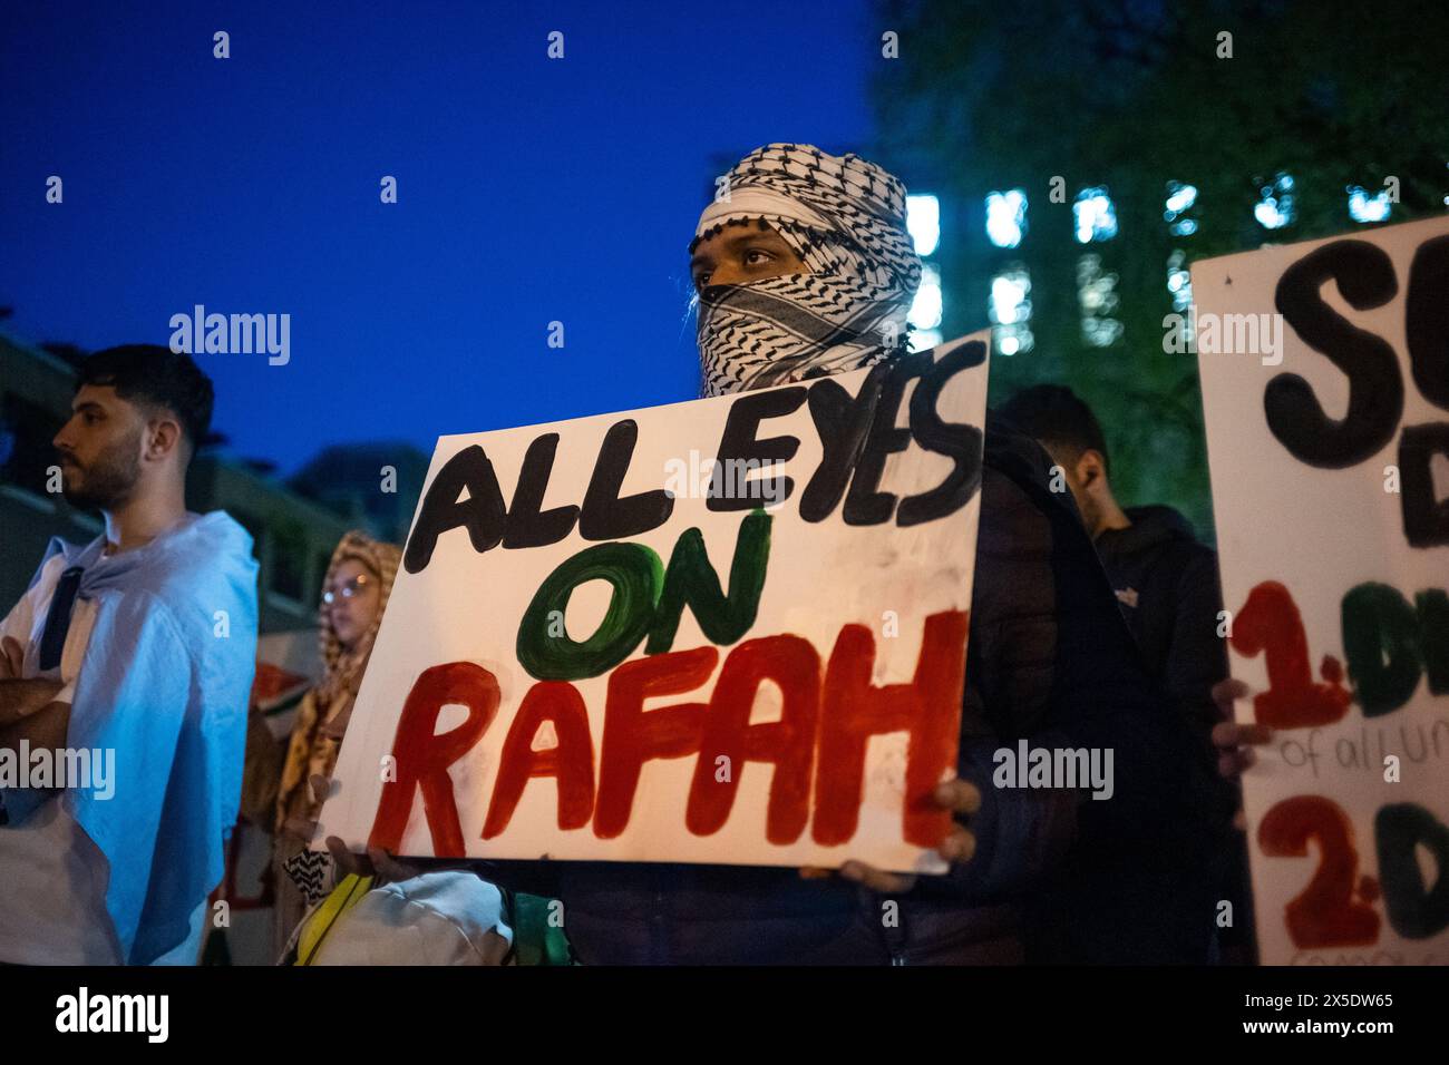
M 1449 219 L 1193 294 L 1261 958 L 1449 962 Z

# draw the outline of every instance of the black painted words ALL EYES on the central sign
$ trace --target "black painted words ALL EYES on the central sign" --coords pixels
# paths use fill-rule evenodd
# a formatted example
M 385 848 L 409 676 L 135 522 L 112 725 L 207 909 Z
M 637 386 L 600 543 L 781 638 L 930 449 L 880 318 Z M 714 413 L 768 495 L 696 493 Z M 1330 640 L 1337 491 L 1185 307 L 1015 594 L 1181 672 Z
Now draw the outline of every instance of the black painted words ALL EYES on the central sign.
M 875 365 L 855 396 L 832 378 L 810 385 L 791 385 L 745 393 L 735 398 L 720 436 L 717 461 L 724 465 L 768 467 L 794 458 L 800 439 L 781 435 L 761 438 L 761 423 L 788 417 L 809 404 L 820 438 L 822 456 L 800 493 L 800 516 L 823 522 L 836 509 L 852 526 L 882 525 L 893 517 L 898 526 L 933 522 L 955 513 L 981 487 L 982 433 L 978 426 L 948 423 L 936 410 L 942 388 L 959 372 L 985 359 L 985 345 L 964 343 L 939 362 L 929 352 L 904 355 Z M 909 427 L 895 425 L 906 385 L 919 378 L 909 404 Z M 417 520 L 407 540 L 403 567 L 420 572 L 432 561 L 438 538 L 452 529 L 467 529 L 474 551 L 487 552 L 500 543 L 506 549 L 558 543 L 578 527 L 585 540 L 617 540 L 658 529 L 674 511 L 674 496 L 664 488 L 620 496 L 629 472 L 639 425 L 623 419 L 609 427 L 594 462 L 581 504 L 543 510 L 543 496 L 554 471 L 559 433 L 542 433 L 529 445 L 519 469 L 513 500 L 503 498 L 498 477 L 487 452 L 472 445 L 454 455 L 427 487 Z M 924 451 L 952 459 L 952 469 L 936 487 L 897 497 L 882 491 L 885 459 L 906 451 L 911 442 Z M 784 503 L 796 481 L 784 474 L 751 483 L 755 491 L 710 493 L 706 506 L 716 511 L 753 510 L 761 498 Z M 467 490 L 467 498 L 461 498 Z M 843 498 L 843 506 L 842 506 Z

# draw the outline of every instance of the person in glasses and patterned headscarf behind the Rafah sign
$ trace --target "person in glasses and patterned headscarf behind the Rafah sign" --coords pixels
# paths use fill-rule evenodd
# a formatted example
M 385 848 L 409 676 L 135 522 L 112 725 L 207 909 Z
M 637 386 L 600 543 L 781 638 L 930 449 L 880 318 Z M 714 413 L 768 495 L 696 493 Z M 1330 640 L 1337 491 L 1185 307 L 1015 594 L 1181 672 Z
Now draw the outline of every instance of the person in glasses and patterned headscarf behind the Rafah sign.
M 400 558 L 391 543 L 354 530 L 332 552 L 322 582 L 317 636 L 325 672 L 297 710 L 275 806 L 277 955 L 307 907 L 332 887 L 329 856 L 307 849 L 322 809 L 322 795 L 309 780 L 332 777 Z

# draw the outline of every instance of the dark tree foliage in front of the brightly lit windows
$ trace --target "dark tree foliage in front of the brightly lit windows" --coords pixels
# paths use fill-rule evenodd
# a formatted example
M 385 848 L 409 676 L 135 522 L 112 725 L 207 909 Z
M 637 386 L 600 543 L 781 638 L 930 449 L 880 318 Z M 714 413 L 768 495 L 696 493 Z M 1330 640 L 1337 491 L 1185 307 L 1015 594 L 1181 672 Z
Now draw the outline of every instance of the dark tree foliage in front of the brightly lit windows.
M 874 149 L 913 190 L 942 197 L 946 335 L 987 325 L 991 275 L 1023 264 L 1036 346 L 994 361 L 993 400 L 1071 384 L 1107 430 L 1119 496 L 1172 503 L 1210 533 L 1195 358 L 1162 351 L 1168 256 L 1358 229 L 1346 188 L 1372 194 L 1388 177 L 1400 196 L 1390 222 L 1442 212 L 1449 4 L 882 0 L 877 10 L 900 58 L 882 59 L 872 87 Z M 1279 172 L 1294 178 L 1297 216 L 1269 232 L 1253 207 Z M 1049 201 L 1053 175 L 1066 203 Z M 1198 190 L 1191 236 L 1164 220 L 1174 180 Z M 1071 201 L 1088 185 L 1110 190 L 1119 235 L 1084 248 Z M 1016 187 L 1029 232 L 997 249 L 984 197 Z M 1110 348 L 1081 338 L 1075 270 L 1088 251 L 1119 278 L 1124 332 Z

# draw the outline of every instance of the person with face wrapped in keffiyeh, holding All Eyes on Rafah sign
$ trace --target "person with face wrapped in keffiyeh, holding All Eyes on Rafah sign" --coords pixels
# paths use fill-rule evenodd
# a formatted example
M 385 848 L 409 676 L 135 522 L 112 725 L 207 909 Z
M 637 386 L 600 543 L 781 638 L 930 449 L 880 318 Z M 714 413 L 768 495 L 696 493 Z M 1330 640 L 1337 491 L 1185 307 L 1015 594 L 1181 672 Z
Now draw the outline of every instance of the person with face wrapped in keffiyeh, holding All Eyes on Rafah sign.
M 703 394 L 906 351 L 920 264 L 900 181 L 787 143 L 751 152 L 727 180 L 690 245 Z M 493 862 L 484 875 L 562 900 L 585 964 L 1201 961 L 1213 909 L 1193 891 L 1200 846 L 1179 794 L 1190 740 L 1155 700 L 1049 469 L 1035 440 L 988 419 L 959 780 L 933 795 L 956 814 L 938 846 L 949 874 L 848 861 L 838 872 Z M 993 787 L 993 753 L 1019 739 L 1114 749 L 1114 801 Z

